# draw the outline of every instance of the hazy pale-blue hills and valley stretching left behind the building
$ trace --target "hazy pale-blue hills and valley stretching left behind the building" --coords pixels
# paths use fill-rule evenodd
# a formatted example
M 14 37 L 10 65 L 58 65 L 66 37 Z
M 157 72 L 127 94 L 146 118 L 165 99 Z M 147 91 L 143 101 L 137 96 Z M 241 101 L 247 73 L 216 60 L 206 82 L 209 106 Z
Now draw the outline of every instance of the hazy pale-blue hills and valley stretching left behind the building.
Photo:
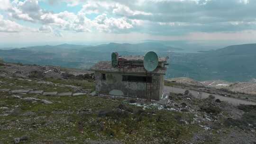
M 94 63 L 110 60 L 112 52 L 120 55 L 144 55 L 147 51 L 167 54 L 172 50 L 182 50 L 158 43 L 105 45 L 39 45 L 10 50 L 0 50 L 0 57 L 7 62 L 59 65 L 71 68 L 90 68 Z

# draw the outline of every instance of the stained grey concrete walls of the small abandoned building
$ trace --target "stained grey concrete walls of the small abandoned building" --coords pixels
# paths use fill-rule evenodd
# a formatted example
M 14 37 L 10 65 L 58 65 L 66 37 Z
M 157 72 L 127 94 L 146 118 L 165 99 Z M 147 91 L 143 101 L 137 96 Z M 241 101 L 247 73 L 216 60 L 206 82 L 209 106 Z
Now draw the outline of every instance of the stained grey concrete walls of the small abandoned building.
M 101 80 L 101 73 L 106 74 L 106 80 Z M 140 74 L 125 74 L 145 76 Z M 96 94 L 128 96 L 142 99 L 149 97 L 150 91 L 147 92 L 148 96 L 146 96 L 145 82 L 122 81 L 122 75 L 122 72 L 95 72 Z M 162 95 L 164 87 L 164 85 L 162 85 L 163 79 L 163 75 L 152 74 L 152 99 L 158 100 Z

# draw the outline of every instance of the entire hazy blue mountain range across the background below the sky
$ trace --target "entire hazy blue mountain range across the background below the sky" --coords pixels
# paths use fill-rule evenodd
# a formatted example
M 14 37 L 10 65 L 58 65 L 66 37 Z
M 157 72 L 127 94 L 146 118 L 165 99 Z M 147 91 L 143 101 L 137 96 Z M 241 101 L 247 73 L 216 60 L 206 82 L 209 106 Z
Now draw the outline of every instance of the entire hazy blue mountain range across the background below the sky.
M 183 53 L 183 50 L 183 47 L 157 42 L 96 46 L 63 44 L 0 50 L 0 57 L 14 63 L 89 69 L 100 60 L 110 60 L 112 52 L 118 52 L 119 55 L 144 55 L 148 51 L 155 51 L 159 56 L 170 57 L 166 77 L 189 76 L 198 81 L 249 81 L 256 78 L 256 44 L 231 45 L 201 53 Z

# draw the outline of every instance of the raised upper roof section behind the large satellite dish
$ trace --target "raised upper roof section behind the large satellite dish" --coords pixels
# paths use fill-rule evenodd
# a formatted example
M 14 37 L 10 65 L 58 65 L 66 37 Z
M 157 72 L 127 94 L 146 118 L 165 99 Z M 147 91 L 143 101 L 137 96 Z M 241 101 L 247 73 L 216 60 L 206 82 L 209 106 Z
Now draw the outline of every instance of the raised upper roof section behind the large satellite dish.
M 159 63 L 166 63 L 168 60 L 168 56 L 165 57 L 159 57 L 158 61 Z M 136 62 L 143 62 L 144 56 L 142 55 L 124 55 L 118 57 L 119 61 L 136 61 Z

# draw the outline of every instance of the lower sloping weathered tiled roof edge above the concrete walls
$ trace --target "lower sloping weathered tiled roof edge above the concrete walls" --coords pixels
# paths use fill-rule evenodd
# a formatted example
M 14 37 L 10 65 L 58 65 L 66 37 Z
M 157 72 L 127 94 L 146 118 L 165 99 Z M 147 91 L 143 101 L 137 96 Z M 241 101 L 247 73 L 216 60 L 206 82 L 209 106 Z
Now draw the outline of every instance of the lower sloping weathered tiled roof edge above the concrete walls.
M 91 67 L 92 71 L 104 71 L 104 72 L 138 72 L 138 73 L 146 73 L 147 71 L 144 69 L 143 66 L 135 66 L 135 67 L 113 67 L 111 61 L 99 61 L 94 66 Z M 165 74 L 166 68 L 157 67 L 155 71 L 152 73 L 157 74 Z

